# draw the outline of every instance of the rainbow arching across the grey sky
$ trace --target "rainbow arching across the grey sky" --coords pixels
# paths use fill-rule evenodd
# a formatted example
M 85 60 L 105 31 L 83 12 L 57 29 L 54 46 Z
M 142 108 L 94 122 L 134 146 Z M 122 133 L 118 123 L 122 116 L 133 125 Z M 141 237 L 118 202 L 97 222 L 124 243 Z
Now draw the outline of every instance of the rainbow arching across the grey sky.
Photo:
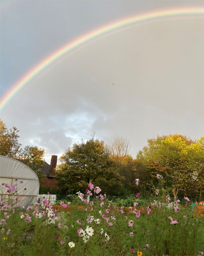
M 99 37 L 108 32 L 112 32 L 115 29 L 123 28 L 128 25 L 132 25 L 137 22 L 153 20 L 158 18 L 166 18 L 166 17 L 174 17 L 174 16 L 189 16 L 189 15 L 204 15 L 204 7 L 177 7 L 176 9 L 166 9 L 159 11 L 152 11 L 143 14 L 137 14 L 135 16 L 131 16 L 129 18 L 124 18 L 121 20 L 117 20 L 108 25 L 104 25 L 99 27 L 91 32 L 88 32 L 85 35 L 82 35 L 73 41 L 68 42 L 60 49 L 56 50 L 48 57 L 40 61 L 36 66 L 34 66 L 27 74 L 25 74 L 16 84 L 14 84 L 11 89 L 2 96 L 0 100 L 0 111 L 6 106 L 9 101 L 26 85 L 31 79 L 36 77 L 40 72 L 42 72 L 45 68 L 51 65 L 54 61 L 62 57 L 64 54 L 70 52 L 71 50 L 79 47 L 80 45 Z

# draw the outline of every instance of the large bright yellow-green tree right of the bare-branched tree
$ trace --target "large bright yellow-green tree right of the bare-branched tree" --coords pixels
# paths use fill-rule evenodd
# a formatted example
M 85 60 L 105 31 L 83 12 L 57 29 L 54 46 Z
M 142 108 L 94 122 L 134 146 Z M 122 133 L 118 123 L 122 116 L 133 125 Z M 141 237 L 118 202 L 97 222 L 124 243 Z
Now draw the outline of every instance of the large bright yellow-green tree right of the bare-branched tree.
M 193 188 L 193 169 L 188 157 L 188 148 L 195 144 L 183 135 L 157 136 L 149 139 L 148 146 L 137 155 L 146 163 L 150 174 L 155 177 L 157 172 L 166 178 L 166 184 L 172 184 L 187 195 L 188 189 Z

